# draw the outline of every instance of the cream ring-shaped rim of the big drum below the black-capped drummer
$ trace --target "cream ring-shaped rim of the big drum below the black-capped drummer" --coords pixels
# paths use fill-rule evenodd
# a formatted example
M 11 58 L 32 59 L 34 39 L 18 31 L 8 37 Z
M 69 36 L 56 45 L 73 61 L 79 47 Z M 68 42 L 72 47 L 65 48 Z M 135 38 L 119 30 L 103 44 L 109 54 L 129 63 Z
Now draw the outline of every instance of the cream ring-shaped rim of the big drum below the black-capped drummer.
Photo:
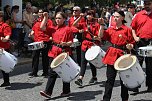
M 121 59 L 124 59 L 125 57 L 128 57 L 128 56 L 130 56 L 130 57 L 133 59 L 132 64 L 130 64 L 130 65 L 129 65 L 128 67 L 126 67 L 126 68 L 118 68 L 118 63 L 120 62 L 120 60 L 121 60 Z M 137 61 L 137 57 L 136 57 L 135 55 L 125 54 L 125 55 L 119 57 L 119 58 L 115 61 L 115 63 L 114 63 L 114 68 L 115 68 L 116 70 L 118 70 L 118 71 L 127 70 L 127 69 L 131 68 L 131 67 L 135 64 L 136 61 Z

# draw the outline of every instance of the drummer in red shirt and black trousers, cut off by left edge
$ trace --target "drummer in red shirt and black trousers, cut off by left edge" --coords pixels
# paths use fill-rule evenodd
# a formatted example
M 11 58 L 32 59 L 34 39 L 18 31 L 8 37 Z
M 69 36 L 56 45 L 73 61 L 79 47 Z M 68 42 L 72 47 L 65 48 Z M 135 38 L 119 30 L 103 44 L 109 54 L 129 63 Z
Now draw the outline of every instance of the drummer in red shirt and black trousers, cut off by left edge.
M 9 39 L 11 36 L 11 28 L 8 24 L 3 22 L 4 13 L 0 11 L 0 49 L 5 49 L 5 51 L 9 52 Z M 9 82 L 9 73 L 5 73 L 5 71 L 1 70 L 3 74 L 4 83 L 0 85 L 0 87 L 10 86 Z

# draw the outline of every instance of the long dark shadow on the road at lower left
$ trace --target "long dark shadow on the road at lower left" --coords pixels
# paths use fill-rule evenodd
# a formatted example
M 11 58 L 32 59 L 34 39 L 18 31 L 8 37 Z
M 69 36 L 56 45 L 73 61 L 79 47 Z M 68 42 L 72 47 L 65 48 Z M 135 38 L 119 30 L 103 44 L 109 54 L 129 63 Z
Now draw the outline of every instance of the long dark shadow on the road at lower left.
M 6 87 L 5 89 L 7 89 L 7 90 L 21 90 L 21 89 L 34 88 L 36 86 L 41 86 L 41 85 L 42 85 L 42 82 L 38 82 L 38 83 L 15 82 L 15 83 L 11 83 L 11 87 Z

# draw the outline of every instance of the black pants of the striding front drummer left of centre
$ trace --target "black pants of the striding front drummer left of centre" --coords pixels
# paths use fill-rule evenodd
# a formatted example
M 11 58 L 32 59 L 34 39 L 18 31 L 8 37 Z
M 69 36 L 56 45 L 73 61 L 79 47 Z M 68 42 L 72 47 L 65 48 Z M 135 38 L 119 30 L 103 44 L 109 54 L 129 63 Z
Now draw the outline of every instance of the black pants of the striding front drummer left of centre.
M 50 63 L 52 61 L 53 61 L 53 58 L 50 58 Z M 47 85 L 45 88 L 46 93 L 52 94 L 57 76 L 58 74 L 55 71 L 53 71 L 51 68 L 49 68 L 49 77 L 48 77 Z M 70 92 L 70 83 L 63 82 L 63 93 L 66 94 L 69 92 Z

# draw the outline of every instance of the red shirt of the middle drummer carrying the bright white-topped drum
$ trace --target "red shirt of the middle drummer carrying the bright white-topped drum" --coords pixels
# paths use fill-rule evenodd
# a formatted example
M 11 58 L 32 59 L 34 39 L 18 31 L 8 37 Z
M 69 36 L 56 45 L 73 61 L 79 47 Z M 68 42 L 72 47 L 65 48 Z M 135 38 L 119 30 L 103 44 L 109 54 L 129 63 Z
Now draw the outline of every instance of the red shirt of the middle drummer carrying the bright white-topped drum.
M 92 36 L 89 32 L 92 33 L 93 36 L 98 36 L 98 32 L 99 32 L 99 28 L 100 28 L 100 25 L 97 23 L 97 22 L 90 22 L 89 23 L 90 25 L 90 29 L 88 29 L 87 27 L 87 23 L 85 23 L 85 25 L 83 26 L 83 29 L 85 30 L 84 34 L 83 34 L 83 42 L 82 42 L 82 45 L 81 45 L 81 49 L 83 51 L 86 51 L 86 49 L 90 48 L 91 46 L 94 45 L 94 43 L 96 45 L 99 45 L 100 42 L 99 41 L 95 41 L 94 43 L 91 41 L 92 40 Z M 89 32 L 86 32 L 86 30 L 88 30 Z M 89 40 L 87 40 L 89 39 Z

